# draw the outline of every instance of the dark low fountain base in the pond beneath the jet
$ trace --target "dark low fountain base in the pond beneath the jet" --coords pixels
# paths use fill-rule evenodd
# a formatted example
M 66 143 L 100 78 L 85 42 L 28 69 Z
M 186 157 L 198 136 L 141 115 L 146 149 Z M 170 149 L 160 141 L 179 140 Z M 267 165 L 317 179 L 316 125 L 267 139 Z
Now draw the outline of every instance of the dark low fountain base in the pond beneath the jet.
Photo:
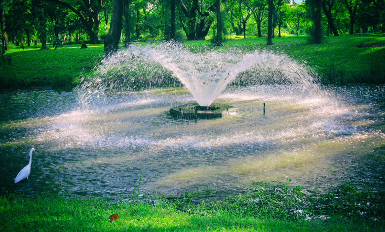
M 235 112 L 238 108 L 221 103 L 213 103 L 210 106 L 199 106 L 199 104 L 186 104 L 170 109 L 172 116 L 177 118 L 197 119 L 197 118 L 217 118 Z

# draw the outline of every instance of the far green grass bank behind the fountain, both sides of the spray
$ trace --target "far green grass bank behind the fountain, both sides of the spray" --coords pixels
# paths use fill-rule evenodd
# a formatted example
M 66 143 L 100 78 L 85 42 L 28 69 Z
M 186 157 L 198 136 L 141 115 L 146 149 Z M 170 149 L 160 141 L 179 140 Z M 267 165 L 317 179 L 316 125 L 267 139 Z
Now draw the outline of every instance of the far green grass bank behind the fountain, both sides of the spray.
M 206 46 L 209 40 L 187 41 L 186 45 Z M 385 83 L 385 46 L 357 47 L 359 44 L 384 43 L 385 34 L 341 35 L 325 37 L 321 44 L 311 43 L 307 36 L 290 36 L 273 39 L 266 45 L 266 38 L 227 39 L 226 46 L 242 46 L 250 49 L 270 49 L 288 54 L 295 60 L 307 63 L 324 83 L 345 84 L 352 82 Z M 11 46 L 0 65 L 1 88 L 31 85 L 73 87 L 79 83 L 82 72 L 92 69 L 103 59 L 103 44 L 64 45 L 48 50 L 34 47 Z M 11 57 L 11 64 L 7 62 Z

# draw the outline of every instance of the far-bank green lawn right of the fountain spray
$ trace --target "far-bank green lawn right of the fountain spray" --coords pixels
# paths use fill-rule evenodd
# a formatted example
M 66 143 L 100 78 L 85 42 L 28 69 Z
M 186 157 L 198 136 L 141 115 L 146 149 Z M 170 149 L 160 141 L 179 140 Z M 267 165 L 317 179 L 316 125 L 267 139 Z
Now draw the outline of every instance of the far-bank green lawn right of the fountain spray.
M 357 47 L 361 43 L 384 43 L 385 34 L 343 34 L 339 37 L 324 37 L 321 44 L 314 44 L 308 36 L 288 36 L 272 39 L 273 45 L 266 45 L 266 38 L 228 39 L 228 46 L 243 46 L 252 49 L 270 49 L 286 53 L 293 59 L 306 62 L 329 82 L 330 76 L 340 76 L 334 83 L 366 82 L 385 83 L 385 46 Z M 210 41 L 189 41 L 191 45 L 209 45 Z

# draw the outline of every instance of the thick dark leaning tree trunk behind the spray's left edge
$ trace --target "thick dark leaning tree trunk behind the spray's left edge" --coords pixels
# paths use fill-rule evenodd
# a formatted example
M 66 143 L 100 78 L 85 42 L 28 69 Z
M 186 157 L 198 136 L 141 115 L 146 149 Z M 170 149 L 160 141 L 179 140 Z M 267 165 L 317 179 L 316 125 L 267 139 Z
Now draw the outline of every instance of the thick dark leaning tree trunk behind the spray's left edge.
M 110 30 L 104 39 L 104 55 L 108 56 L 119 48 L 119 39 L 122 29 L 123 0 L 113 0 L 111 11 Z

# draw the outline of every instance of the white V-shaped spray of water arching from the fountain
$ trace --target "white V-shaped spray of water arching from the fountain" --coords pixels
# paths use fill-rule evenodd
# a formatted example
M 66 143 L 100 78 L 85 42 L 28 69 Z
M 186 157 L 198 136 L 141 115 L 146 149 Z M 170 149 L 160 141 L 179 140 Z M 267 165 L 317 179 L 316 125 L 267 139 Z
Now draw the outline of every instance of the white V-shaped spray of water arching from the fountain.
M 182 83 L 199 105 L 209 106 L 231 82 L 299 83 L 305 91 L 315 87 L 315 76 L 287 55 L 268 50 L 131 44 L 101 62 L 82 83 L 80 98 L 90 102 L 95 96 Z

